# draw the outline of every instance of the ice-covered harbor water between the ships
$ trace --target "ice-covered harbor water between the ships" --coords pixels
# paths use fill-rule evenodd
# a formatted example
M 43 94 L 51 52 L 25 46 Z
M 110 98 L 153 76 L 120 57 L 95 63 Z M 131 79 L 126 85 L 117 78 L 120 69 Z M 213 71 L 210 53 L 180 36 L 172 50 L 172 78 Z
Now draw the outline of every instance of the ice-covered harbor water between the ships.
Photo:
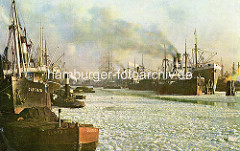
M 240 97 L 218 95 L 96 89 L 86 107 L 63 108 L 61 116 L 98 127 L 97 150 L 240 150 Z

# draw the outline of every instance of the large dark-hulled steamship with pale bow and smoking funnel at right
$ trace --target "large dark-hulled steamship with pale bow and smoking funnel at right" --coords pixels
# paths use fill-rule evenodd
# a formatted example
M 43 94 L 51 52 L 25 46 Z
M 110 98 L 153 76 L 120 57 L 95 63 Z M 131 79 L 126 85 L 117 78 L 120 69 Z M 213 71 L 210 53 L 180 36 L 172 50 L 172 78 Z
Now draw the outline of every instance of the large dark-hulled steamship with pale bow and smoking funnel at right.
M 188 54 L 187 54 L 187 46 L 185 41 L 185 66 L 182 65 L 181 54 L 177 53 L 174 56 L 173 61 L 173 71 L 172 71 L 172 79 L 161 80 L 158 85 L 158 89 L 156 90 L 160 94 L 180 94 L 180 95 L 201 95 L 205 94 L 214 94 L 216 91 L 218 77 L 220 75 L 221 66 L 216 63 L 210 63 L 210 58 L 207 60 L 198 59 L 198 45 L 197 45 L 197 33 L 196 30 L 194 32 L 195 35 L 195 48 L 193 49 L 192 55 L 192 64 L 188 65 Z M 167 75 L 167 58 L 165 53 L 164 59 L 164 75 Z M 184 72 L 184 78 L 179 79 L 177 75 L 179 71 Z M 182 73 L 183 73 L 182 72 Z M 187 79 L 187 72 L 191 73 L 191 78 Z

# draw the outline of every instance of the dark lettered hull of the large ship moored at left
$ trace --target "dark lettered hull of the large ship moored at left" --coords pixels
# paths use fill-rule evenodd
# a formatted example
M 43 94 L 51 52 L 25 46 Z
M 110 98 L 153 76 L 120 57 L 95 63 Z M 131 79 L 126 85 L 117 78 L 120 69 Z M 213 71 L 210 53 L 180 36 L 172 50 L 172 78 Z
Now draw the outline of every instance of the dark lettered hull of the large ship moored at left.
M 25 108 L 51 108 L 50 93 L 43 83 L 11 76 L 2 81 L 1 90 L 0 106 L 2 112 L 19 114 Z

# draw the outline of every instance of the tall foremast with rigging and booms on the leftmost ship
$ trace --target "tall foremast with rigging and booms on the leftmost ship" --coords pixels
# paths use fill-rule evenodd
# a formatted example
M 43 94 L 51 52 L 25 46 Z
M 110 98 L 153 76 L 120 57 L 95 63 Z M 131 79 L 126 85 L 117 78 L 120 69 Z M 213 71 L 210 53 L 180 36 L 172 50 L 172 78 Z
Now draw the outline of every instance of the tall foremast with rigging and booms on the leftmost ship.
M 27 76 L 30 60 L 31 41 L 28 43 L 26 28 L 21 26 L 17 14 L 16 1 L 12 0 L 10 10 L 11 25 L 9 26 L 8 43 L 4 50 L 4 57 L 10 64 L 10 74 L 21 78 L 22 74 Z M 8 49 L 11 50 L 11 59 Z M 9 70 L 9 69 L 8 69 Z

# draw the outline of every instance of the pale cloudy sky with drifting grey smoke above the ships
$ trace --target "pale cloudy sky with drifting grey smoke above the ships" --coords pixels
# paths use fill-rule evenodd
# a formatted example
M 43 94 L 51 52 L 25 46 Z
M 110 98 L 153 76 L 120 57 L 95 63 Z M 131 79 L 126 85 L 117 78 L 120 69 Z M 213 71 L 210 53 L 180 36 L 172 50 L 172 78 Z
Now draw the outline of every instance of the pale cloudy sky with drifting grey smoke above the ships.
M 0 48 L 7 43 L 10 0 L 0 0 Z M 63 52 L 68 69 L 96 70 L 101 55 L 112 51 L 116 62 L 162 64 L 163 45 L 169 56 L 194 47 L 205 55 L 216 52 L 227 69 L 240 61 L 240 1 L 238 0 L 16 0 L 28 35 L 39 44 L 44 26 L 51 59 Z M 56 52 L 56 53 L 54 53 Z

